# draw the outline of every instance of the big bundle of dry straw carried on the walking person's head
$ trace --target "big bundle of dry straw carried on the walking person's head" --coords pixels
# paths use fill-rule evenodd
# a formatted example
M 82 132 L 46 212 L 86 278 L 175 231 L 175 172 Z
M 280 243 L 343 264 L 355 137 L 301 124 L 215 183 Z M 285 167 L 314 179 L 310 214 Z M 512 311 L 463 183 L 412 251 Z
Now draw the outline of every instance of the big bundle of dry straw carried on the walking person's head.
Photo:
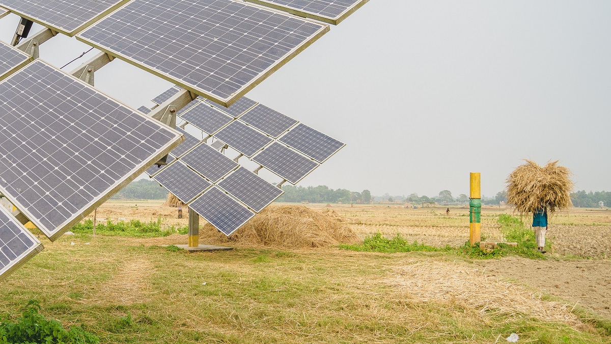
M 547 208 L 551 214 L 557 209 L 573 206 L 569 193 L 573 191 L 571 171 L 558 166 L 558 161 L 541 167 L 532 160 L 525 160 L 507 178 L 507 201 L 519 214 Z

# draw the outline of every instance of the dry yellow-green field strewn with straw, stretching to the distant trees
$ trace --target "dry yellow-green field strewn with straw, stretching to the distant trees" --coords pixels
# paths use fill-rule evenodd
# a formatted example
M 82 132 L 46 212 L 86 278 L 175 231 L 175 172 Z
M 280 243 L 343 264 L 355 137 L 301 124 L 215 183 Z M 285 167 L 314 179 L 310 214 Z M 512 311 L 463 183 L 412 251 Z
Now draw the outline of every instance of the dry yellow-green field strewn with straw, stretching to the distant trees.
M 468 209 L 453 208 L 449 216 L 445 209 L 332 209 L 361 237 L 401 233 L 436 246 L 468 239 Z M 483 211 L 483 233 L 491 238 L 501 236 L 500 212 L 505 210 Z M 161 216 L 167 226 L 184 226 L 186 219 L 174 214 L 158 203 L 131 201 L 105 204 L 98 219 Z M 610 215 L 576 211 L 553 219 L 556 252 L 544 263 L 600 269 L 602 281 L 611 282 L 604 259 L 609 242 L 607 249 L 581 249 L 584 256 L 596 253 L 596 260 L 579 258 L 579 235 L 595 231 L 602 242 Z M 611 343 L 603 311 L 452 252 L 238 244 L 229 252 L 188 254 L 161 247 L 185 243 L 180 234 L 77 234 L 43 242 L 43 252 L 0 282 L 0 315 L 14 318 L 37 299 L 43 314 L 66 326 L 82 324 L 102 343 L 500 343 L 511 332 L 519 342 Z M 511 259 L 495 261 L 508 261 L 516 271 L 532 261 Z M 605 292 L 599 302 L 609 302 Z

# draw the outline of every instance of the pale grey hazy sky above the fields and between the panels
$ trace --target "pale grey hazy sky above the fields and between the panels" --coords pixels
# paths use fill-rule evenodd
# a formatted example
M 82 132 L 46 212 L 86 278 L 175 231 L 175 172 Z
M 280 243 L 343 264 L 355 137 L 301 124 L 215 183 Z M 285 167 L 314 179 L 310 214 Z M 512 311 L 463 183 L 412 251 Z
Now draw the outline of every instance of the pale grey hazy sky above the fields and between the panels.
M 533 159 L 560 160 L 579 190 L 611 190 L 610 13 L 609 1 L 370 0 L 247 96 L 347 144 L 298 185 L 457 196 L 481 172 L 493 196 Z M 1 40 L 17 22 L 0 20 Z M 58 35 L 40 56 L 60 67 L 88 48 Z M 118 59 L 95 81 L 134 108 L 171 86 Z

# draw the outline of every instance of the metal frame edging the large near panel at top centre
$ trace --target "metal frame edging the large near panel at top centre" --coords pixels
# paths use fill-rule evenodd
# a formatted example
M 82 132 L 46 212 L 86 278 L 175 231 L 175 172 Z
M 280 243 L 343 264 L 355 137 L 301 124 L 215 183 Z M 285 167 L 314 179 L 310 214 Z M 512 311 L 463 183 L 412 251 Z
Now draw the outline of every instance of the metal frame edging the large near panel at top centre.
M 224 107 L 229 107 L 230 105 L 232 105 L 234 102 L 236 102 L 238 99 L 240 99 L 244 94 L 246 94 L 247 92 L 251 91 L 251 89 L 253 89 L 255 86 L 257 86 L 257 84 L 261 83 L 263 80 L 265 80 L 266 78 L 269 77 L 269 75 L 273 74 L 274 72 L 276 72 L 276 70 L 280 69 L 280 67 L 282 67 L 283 65 L 287 64 L 288 61 L 290 61 L 291 59 L 295 58 L 295 56 L 297 56 L 299 53 L 301 53 L 301 51 L 305 50 L 305 48 L 309 47 L 310 45 L 312 45 L 312 43 L 316 42 L 316 40 L 318 40 L 320 37 L 322 37 L 324 34 L 326 34 L 327 32 L 329 32 L 329 25 L 327 24 L 322 24 L 318 21 L 313 21 L 313 20 L 309 20 L 307 18 L 302 18 L 302 17 L 297 17 L 294 15 L 291 15 L 290 13 L 284 12 L 284 11 L 279 11 L 279 10 L 274 10 L 274 9 L 270 9 L 269 7 L 266 6 L 260 6 L 257 4 L 252 4 L 249 2 L 244 2 L 244 1 L 236 1 L 236 0 L 230 0 L 230 1 L 235 1 L 238 2 L 240 4 L 246 4 L 247 6 L 253 6 L 253 7 L 257 7 L 258 9 L 263 9 L 263 10 L 268 10 L 280 15 L 285 15 L 285 16 L 290 16 L 290 17 L 294 17 L 298 20 L 304 20 L 304 21 L 309 21 L 312 24 L 316 24 L 316 25 L 322 25 L 322 27 L 320 29 L 318 29 L 318 31 L 315 32 L 315 34 L 313 34 L 308 40 L 306 40 L 305 42 L 303 42 L 301 45 L 298 45 L 297 47 L 293 48 L 293 50 L 289 51 L 289 53 L 285 54 L 282 58 L 278 59 L 276 62 L 274 62 L 273 64 L 271 64 L 267 69 L 263 70 L 263 72 L 259 73 L 257 75 L 257 77 L 252 78 L 248 83 L 246 83 L 244 86 L 242 86 L 240 89 L 238 89 L 238 91 L 236 91 L 235 93 L 233 93 L 230 97 L 227 98 L 221 98 L 218 97 L 214 94 L 212 94 L 211 92 L 208 91 L 204 91 L 203 89 L 198 89 L 197 86 L 195 85 L 189 85 L 181 80 L 178 80 L 178 78 L 174 78 L 171 75 L 161 72 L 161 70 L 156 70 L 152 67 L 148 67 L 145 64 L 141 64 L 140 62 L 136 61 L 133 58 L 130 58 L 129 56 L 126 56 L 125 54 L 119 53 L 118 51 L 112 50 L 111 48 L 107 48 L 107 47 L 103 47 L 101 45 L 99 45 L 98 43 L 93 42 L 90 39 L 87 39 L 85 37 L 82 37 L 82 33 L 80 32 L 79 34 L 76 35 L 76 39 L 80 40 L 81 42 L 86 43 L 87 45 L 90 45 L 91 47 L 97 48 L 98 50 L 104 51 L 104 53 L 108 53 L 112 56 L 115 56 L 117 58 L 122 59 L 125 62 L 128 62 L 129 64 L 135 65 L 136 67 L 143 69 L 149 73 L 152 73 L 154 75 L 157 75 L 160 78 L 163 78 L 167 81 L 170 81 L 172 83 L 177 84 L 177 86 L 180 86 L 181 88 L 184 88 L 188 91 L 194 92 L 197 95 L 202 96 L 205 99 L 209 99 L 212 100 L 213 102 L 216 102 Z M 101 18 L 100 20 L 98 20 L 98 22 L 105 20 L 106 18 L 111 17 L 112 15 L 114 15 L 115 13 L 119 12 L 121 10 L 121 8 L 119 9 L 115 9 L 114 11 L 112 11 L 111 13 L 109 13 L 108 15 L 106 15 L 105 17 Z M 93 25 L 95 26 L 95 25 Z M 93 27 L 92 26 L 92 27 Z

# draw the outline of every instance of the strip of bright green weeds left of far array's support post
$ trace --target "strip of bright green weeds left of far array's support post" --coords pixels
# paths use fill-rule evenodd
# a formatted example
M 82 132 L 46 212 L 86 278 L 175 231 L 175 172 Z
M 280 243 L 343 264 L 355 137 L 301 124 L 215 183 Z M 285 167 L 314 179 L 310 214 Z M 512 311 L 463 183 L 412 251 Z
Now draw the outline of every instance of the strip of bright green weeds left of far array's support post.
M 71 228 L 71 231 L 76 234 L 92 234 L 93 220 L 87 219 L 77 223 Z M 106 223 L 98 222 L 95 226 L 96 234 L 106 236 L 159 237 L 169 236 L 173 233 L 186 234 L 188 232 L 188 226 L 164 226 L 161 217 L 149 222 L 142 222 L 140 220 L 112 222 L 108 220 Z

